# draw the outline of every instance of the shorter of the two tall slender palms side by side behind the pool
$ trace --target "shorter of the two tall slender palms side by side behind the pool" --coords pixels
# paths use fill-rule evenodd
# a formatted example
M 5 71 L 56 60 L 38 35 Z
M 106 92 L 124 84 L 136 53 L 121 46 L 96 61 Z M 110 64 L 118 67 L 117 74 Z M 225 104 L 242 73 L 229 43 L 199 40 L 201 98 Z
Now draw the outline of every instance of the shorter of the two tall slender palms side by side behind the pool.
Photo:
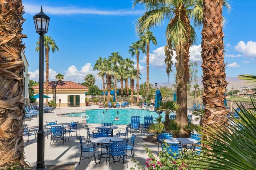
M 141 41 L 136 41 L 135 43 L 132 43 L 132 45 L 130 45 L 129 47 L 129 53 L 132 55 L 132 57 L 134 57 L 134 55 L 136 55 L 137 58 L 137 104 L 140 102 L 139 100 L 139 60 L 140 60 L 140 51 L 142 53 L 146 53 L 146 49 L 145 46 L 143 45 L 143 43 Z

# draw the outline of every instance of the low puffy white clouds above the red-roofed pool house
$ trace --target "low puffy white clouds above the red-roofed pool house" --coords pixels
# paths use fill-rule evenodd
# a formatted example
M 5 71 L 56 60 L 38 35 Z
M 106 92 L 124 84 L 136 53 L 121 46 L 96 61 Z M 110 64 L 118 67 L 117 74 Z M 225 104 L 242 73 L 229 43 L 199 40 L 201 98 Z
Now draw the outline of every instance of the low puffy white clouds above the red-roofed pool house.
M 72 65 L 68 67 L 67 70 L 64 71 L 64 81 L 74 81 L 74 82 L 84 82 L 84 77 L 86 74 L 93 74 L 97 79 L 101 79 L 97 76 L 97 71 L 94 71 L 92 68 L 91 63 L 86 63 L 84 66 L 82 66 L 81 70 L 78 70 L 76 66 Z M 29 71 L 30 79 L 38 81 L 39 78 L 39 70 L 35 70 L 34 72 Z M 55 76 L 58 73 L 51 68 L 49 69 L 49 80 L 53 81 L 55 80 Z M 44 80 L 45 80 L 46 74 L 44 72 Z

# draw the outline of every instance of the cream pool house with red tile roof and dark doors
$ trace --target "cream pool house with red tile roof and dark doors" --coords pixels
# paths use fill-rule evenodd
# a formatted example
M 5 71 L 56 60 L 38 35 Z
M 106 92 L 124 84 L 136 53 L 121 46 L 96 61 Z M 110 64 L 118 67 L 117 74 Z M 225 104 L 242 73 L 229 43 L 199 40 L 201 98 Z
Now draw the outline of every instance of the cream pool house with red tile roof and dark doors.
M 34 94 L 39 93 L 39 85 L 34 86 Z M 44 94 L 46 94 L 46 83 L 44 83 Z M 88 87 L 81 84 L 63 81 L 57 82 L 56 86 L 56 104 L 57 107 L 74 107 L 74 106 L 85 106 L 85 92 L 88 92 Z M 49 82 L 49 100 L 54 100 L 55 90 L 54 82 Z M 61 103 L 59 105 L 59 99 Z M 49 101 L 48 100 L 48 101 Z M 45 102 L 45 99 L 44 99 Z

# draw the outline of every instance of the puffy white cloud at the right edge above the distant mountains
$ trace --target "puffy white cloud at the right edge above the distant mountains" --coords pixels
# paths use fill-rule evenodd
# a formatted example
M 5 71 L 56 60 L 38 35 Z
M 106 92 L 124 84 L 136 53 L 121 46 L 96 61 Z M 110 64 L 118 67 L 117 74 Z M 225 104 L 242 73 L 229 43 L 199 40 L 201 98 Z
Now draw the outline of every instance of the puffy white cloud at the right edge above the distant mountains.
M 236 51 L 243 53 L 244 57 L 254 58 L 256 57 L 256 42 L 248 41 L 244 43 L 244 41 L 239 41 L 237 45 L 234 47 Z

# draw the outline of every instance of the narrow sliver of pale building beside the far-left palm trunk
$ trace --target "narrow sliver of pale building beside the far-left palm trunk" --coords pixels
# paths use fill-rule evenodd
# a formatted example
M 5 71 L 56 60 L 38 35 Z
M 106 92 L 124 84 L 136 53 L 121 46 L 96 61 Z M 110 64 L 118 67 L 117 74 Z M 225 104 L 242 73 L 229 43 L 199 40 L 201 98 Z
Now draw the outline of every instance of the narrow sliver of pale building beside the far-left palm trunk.
M 25 102 L 24 103 L 27 105 L 27 104 L 29 104 L 29 74 L 28 74 L 28 61 L 26 59 L 24 50 L 22 50 L 22 52 L 21 52 L 21 59 L 24 62 L 24 64 L 23 64 L 24 65 L 23 95 L 25 97 Z

